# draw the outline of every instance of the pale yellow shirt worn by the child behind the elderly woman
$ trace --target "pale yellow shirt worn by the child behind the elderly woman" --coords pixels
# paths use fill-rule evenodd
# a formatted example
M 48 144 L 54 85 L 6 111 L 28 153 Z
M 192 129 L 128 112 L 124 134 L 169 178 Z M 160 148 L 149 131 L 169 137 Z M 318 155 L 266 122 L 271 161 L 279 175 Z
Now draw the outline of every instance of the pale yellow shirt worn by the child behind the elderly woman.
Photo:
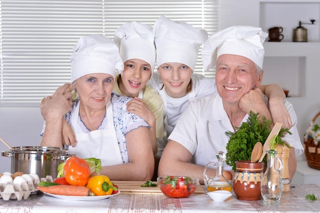
M 118 85 L 118 77 L 115 80 L 115 87 L 113 87 L 113 91 L 118 93 L 120 96 L 125 96 L 119 89 Z M 163 118 L 163 102 L 158 92 L 152 88 L 150 85 L 146 85 L 143 89 L 143 98 L 142 100 L 147 104 L 150 111 L 155 116 L 155 134 L 156 137 L 164 136 L 164 118 Z

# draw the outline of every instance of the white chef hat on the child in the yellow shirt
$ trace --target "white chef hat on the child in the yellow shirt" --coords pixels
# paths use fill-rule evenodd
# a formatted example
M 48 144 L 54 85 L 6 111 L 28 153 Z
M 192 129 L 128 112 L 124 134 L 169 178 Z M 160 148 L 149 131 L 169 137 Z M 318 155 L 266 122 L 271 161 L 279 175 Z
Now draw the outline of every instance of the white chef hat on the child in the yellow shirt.
M 125 23 L 116 30 L 113 41 L 118 44 L 124 62 L 133 58 L 141 59 L 148 62 L 153 71 L 155 46 L 152 27 L 136 21 Z

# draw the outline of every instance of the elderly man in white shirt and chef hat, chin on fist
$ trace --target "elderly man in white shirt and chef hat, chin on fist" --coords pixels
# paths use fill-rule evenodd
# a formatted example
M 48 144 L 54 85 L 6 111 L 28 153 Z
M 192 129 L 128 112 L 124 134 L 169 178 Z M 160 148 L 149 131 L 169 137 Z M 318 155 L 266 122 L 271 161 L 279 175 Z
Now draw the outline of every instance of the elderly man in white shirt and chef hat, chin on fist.
M 263 42 L 267 33 L 249 26 L 230 27 L 212 35 L 204 43 L 202 61 L 205 70 L 216 66 L 217 94 L 191 102 L 181 114 L 159 162 L 158 175 L 199 178 L 203 184 L 204 166 L 217 159 L 218 151 L 226 153 L 226 131 L 246 122 L 250 110 L 271 120 L 268 101 L 257 87 L 263 77 Z M 285 101 L 292 120 L 292 135 L 285 135 L 290 144 L 289 173 L 296 170 L 296 155 L 303 153 L 296 114 Z M 225 165 L 225 177 L 231 179 Z M 207 171 L 209 176 L 215 170 Z

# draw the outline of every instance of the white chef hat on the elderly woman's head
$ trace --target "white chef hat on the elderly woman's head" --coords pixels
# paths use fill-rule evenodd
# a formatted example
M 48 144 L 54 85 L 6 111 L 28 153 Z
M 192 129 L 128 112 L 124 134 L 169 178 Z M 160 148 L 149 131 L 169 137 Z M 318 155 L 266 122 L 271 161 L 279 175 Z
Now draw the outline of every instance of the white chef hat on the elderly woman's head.
M 71 55 L 71 81 L 92 73 L 105 73 L 115 78 L 123 71 L 123 61 L 115 42 L 102 35 L 81 37 Z

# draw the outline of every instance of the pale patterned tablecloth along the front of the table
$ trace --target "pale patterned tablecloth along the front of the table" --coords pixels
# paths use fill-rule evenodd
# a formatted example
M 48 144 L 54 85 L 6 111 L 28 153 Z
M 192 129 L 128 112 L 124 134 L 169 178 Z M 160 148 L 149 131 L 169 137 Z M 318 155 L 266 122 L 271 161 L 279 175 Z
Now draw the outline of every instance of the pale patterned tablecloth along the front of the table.
M 192 195 L 173 199 L 162 194 L 120 194 L 99 201 L 70 201 L 42 193 L 26 200 L 0 199 L 0 212 L 319 212 L 320 200 L 305 199 L 308 194 L 320 197 L 316 184 L 294 184 L 283 193 L 280 204 L 266 205 L 262 200 L 241 201 L 233 196 L 225 202 L 215 202 L 208 195 Z

